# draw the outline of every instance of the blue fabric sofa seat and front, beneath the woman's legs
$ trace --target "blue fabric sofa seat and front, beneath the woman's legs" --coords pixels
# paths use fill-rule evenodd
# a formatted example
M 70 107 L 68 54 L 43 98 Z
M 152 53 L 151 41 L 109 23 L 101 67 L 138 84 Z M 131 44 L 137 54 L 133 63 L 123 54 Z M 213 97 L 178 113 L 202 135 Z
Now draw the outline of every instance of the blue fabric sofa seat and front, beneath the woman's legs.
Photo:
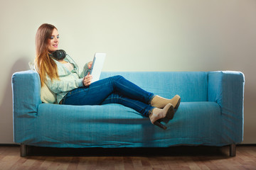
M 162 130 L 131 108 L 63 106 L 42 103 L 27 145 L 41 147 L 169 147 L 225 145 L 221 141 L 220 106 L 214 102 L 182 102 Z

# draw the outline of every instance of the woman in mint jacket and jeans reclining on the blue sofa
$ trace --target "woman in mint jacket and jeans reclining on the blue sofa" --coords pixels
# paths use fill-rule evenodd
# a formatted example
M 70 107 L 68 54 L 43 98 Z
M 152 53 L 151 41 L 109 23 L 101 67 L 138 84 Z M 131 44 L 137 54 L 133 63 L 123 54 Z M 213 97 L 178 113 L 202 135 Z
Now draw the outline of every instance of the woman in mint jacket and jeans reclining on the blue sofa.
M 91 84 L 93 77 L 88 73 L 92 62 L 85 64 L 81 74 L 78 65 L 68 55 L 54 58 L 58 50 L 59 34 L 50 24 L 41 25 L 36 33 L 36 69 L 41 84 L 45 83 L 56 94 L 58 103 L 63 105 L 104 105 L 119 103 L 149 116 L 152 124 L 166 129 L 160 120 L 171 119 L 174 109 L 181 101 L 180 96 L 167 99 L 144 91 L 139 86 L 114 76 Z

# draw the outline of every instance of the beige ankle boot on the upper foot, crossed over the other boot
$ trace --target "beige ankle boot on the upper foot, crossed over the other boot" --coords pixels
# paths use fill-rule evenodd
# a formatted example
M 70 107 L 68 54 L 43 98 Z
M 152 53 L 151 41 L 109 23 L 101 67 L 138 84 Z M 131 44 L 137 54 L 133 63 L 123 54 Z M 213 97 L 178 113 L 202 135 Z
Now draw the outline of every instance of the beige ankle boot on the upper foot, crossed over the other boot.
M 168 99 L 163 98 L 161 96 L 154 96 L 154 98 L 151 100 L 151 106 L 156 108 L 164 108 L 166 104 L 171 103 L 174 106 L 174 109 L 178 109 L 179 104 L 181 103 L 181 97 L 176 95 L 174 98 Z

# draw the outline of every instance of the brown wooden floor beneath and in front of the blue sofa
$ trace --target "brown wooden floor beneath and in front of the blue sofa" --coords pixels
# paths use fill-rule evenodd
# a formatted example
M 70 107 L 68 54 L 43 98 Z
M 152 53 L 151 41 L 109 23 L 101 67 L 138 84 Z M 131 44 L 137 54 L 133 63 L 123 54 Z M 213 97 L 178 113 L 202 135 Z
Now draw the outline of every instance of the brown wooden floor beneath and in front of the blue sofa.
M 0 146 L 0 169 L 256 169 L 255 145 L 238 145 L 236 157 L 229 157 L 229 147 L 33 147 L 29 152 L 29 157 L 20 157 L 18 146 Z

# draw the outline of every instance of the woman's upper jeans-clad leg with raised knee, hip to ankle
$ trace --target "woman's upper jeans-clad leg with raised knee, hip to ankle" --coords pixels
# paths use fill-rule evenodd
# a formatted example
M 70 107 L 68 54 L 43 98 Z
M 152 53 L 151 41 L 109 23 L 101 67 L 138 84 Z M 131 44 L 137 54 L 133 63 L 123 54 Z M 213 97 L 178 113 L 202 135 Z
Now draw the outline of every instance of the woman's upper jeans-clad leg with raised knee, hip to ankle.
M 118 93 L 146 104 L 149 104 L 154 96 L 154 94 L 144 91 L 124 77 L 114 76 L 95 81 L 90 86 L 70 91 L 63 98 L 63 104 L 99 105 L 112 93 Z

